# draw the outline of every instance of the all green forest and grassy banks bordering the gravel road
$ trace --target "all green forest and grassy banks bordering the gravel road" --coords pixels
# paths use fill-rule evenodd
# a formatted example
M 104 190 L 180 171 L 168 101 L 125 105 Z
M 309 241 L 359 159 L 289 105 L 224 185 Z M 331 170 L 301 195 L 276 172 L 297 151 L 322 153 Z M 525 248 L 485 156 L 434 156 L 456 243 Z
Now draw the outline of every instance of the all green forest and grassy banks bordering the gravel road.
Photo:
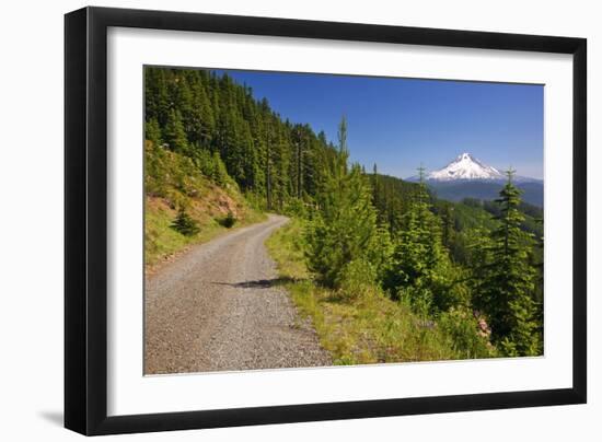
M 331 140 L 201 69 L 147 67 L 144 121 L 149 269 L 280 213 L 268 249 L 335 363 L 543 354 L 543 210 L 514 171 L 495 200 L 440 199 L 352 163 L 345 116 Z

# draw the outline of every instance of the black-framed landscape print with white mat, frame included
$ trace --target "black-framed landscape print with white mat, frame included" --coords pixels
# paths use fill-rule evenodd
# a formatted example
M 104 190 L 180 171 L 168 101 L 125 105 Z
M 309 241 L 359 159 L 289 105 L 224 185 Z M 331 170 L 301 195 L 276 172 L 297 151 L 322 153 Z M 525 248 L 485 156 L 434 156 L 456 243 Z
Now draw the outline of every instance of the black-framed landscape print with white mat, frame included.
M 66 15 L 65 422 L 586 402 L 586 40 Z

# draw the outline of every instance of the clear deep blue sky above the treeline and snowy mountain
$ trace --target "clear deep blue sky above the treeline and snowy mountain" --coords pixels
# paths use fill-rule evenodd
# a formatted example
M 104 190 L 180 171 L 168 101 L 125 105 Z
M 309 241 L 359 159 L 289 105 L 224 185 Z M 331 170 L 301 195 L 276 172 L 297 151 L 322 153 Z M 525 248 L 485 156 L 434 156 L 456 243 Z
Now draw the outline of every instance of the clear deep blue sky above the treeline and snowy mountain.
M 219 71 L 224 72 L 224 71 Z M 398 177 L 470 152 L 543 177 L 542 85 L 228 70 L 274 111 L 336 141 L 345 115 L 351 160 Z

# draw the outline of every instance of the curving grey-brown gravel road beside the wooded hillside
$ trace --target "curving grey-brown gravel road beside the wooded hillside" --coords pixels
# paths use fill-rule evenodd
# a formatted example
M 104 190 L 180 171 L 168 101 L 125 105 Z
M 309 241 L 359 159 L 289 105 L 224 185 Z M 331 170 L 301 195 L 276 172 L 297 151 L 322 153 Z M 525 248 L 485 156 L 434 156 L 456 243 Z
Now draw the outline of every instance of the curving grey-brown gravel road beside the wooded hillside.
M 146 281 L 147 374 L 331 364 L 264 246 L 286 222 L 198 245 Z

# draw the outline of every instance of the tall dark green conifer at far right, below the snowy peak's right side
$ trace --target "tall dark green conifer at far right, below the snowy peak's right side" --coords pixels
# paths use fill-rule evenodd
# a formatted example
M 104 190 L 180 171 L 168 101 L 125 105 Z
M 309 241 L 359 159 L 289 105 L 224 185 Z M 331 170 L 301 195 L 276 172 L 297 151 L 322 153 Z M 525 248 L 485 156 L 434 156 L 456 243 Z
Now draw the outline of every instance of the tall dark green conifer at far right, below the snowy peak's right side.
M 521 230 L 524 216 L 519 211 L 521 190 L 512 183 L 514 171 L 496 199 L 499 228 L 491 232 L 485 249 L 486 263 L 481 266 L 475 304 L 488 317 L 491 336 L 508 356 L 536 354 L 533 292 L 535 269 L 530 264 L 533 234 Z

